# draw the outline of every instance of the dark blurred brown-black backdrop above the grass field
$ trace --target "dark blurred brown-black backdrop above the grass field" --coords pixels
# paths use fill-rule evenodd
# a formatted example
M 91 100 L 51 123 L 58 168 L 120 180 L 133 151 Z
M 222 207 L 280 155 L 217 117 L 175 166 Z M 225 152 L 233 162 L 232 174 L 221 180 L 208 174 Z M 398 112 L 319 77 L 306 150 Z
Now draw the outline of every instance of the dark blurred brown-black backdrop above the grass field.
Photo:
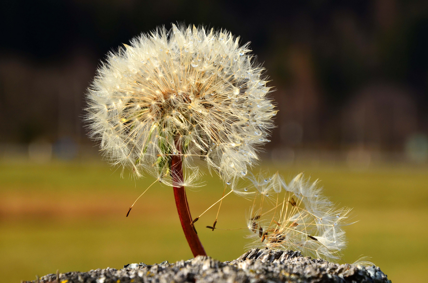
M 6 0 L 0 19 L 3 144 L 92 144 L 82 109 L 100 60 L 178 22 L 251 41 L 280 110 L 268 150 L 428 148 L 427 1 Z

